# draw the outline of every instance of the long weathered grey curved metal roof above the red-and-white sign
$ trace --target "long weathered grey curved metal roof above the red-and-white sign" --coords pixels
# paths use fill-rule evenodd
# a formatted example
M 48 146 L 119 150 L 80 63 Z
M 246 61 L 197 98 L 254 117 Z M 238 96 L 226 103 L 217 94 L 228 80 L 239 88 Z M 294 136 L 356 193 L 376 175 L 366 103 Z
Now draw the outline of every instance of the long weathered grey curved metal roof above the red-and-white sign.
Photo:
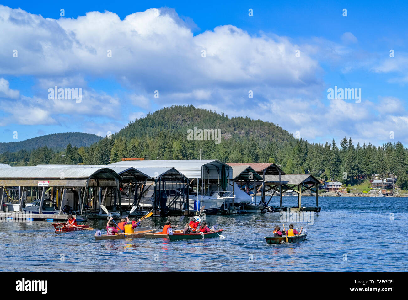
M 63 167 L 62 167 L 63 166 Z M 0 169 L 0 178 L 120 178 L 118 173 L 107 167 L 11 167 Z M 96 175 L 98 174 L 98 175 Z

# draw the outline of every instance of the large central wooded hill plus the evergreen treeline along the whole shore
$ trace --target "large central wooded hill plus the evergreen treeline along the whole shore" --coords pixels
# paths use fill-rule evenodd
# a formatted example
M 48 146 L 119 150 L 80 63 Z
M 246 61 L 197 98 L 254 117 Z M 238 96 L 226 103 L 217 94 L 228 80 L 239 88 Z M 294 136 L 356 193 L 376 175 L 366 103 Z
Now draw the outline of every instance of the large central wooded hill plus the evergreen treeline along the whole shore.
M 197 139 L 188 136 L 188 130 L 197 127 Z M 198 131 L 221 131 L 220 140 L 203 140 Z M 69 133 L 67 133 L 69 134 Z M 71 133 L 72 134 L 72 133 Z M 82 133 L 81 133 L 82 134 Z M 316 178 L 355 184 L 358 175 L 381 178 L 392 172 L 397 185 L 408 189 L 408 149 L 401 142 L 383 144 L 353 144 L 344 137 L 325 144 L 310 144 L 295 139 L 277 124 L 229 118 L 223 113 L 197 109 L 193 106 L 172 106 L 147 114 L 130 122 L 109 137 L 97 140 L 91 146 L 75 146 L 68 137 L 62 140 L 46 136 L 47 146 L 39 147 L 30 140 L 26 149 L 0 154 L 0 163 L 13 166 L 37 164 L 109 164 L 122 158 L 146 160 L 179 160 L 200 158 L 222 162 L 275 162 L 287 174 L 313 174 Z M 39 137 L 44 138 L 44 137 Z M 99 137 L 97 137 L 99 139 Z M 35 139 L 31 139 L 35 140 Z M 71 144 L 68 144 L 68 143 Z M 65 145 L 63 151 L 50 147 Z M 37 147 L 35 150 L 30 150 Z M 347 174 L 347 176 L 344 176 Z

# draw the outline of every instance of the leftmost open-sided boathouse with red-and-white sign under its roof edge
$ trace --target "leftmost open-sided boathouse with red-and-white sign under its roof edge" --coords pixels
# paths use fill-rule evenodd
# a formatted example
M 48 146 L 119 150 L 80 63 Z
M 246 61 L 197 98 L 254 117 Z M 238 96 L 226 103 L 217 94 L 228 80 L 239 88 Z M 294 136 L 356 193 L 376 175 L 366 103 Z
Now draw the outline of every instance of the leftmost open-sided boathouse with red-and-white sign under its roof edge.
M 9 197 L 7 189 L 18 187 L 17 200 L 10 199 L 18 201 L 18 212 L 22 212 L 24 208 L 29 189 L 31 200 L 34 191 L 36 198 L 40 198 L 37 219 L 65 219 L 62 209 L 65 204 L 69 204 L 74 211 L 80 211 L 80 215 L 76 216 L 77 220 L 84 220 L 86 218 L 82 214 L 85 208 L 99 208 L 102 202 L 101 189 L 118 189 L 119 180 L 119 174 L 105 166 L 39 165 L 0 168 L 0 187 L 3 187 L 0 207 L 3 206 L 4 198 Z M 55 199 L 56 207 L 51 215 L 42 211 L 46 199 Z

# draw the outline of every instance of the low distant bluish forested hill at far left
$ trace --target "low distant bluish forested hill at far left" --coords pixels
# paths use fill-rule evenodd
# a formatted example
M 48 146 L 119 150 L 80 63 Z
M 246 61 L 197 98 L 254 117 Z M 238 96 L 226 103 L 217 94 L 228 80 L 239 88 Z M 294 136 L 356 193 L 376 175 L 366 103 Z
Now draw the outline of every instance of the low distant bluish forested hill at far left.
M 96 134 L 82 132 L 52 133 L 46 136 L 37 136 L 20 142 L 0 143 L 0 153 L 6 151 L 16 152 L 20 150 L 32 150 L 39 147 L 47 146 L 53 150 L 63 150 L 67 144 L 76 147 L 89 147 L 91 144 L 98 142 L 101 137 Z

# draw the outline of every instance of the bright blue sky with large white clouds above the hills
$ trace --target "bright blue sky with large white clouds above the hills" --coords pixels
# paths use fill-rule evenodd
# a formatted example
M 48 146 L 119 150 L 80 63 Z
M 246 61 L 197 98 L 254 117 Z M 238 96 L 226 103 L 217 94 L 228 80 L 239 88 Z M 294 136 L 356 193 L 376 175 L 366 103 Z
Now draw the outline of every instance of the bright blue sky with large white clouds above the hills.
M 149 111 L 193 104 L 274 122 L 309 142 L 408 144 L 406 2 L 2 5 L 0 142 L 105 136 Z M 81 102 L 49 99 L 55 85 L 81 89 Z M 335 86 L 361 89 L 361 102 L 329 100 Z

